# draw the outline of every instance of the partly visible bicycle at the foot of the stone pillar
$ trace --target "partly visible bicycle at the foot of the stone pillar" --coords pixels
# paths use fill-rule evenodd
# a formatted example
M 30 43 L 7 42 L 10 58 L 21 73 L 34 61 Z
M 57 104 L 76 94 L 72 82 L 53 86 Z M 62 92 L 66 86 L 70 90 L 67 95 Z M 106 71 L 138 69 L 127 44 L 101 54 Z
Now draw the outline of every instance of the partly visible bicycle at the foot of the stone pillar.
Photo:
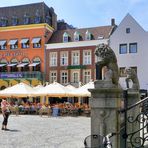
M 84 146 L 85 148 L 112 148 L 112 142 L 110 138 L 112 136 L 116 135 L 116 133 L 109 133 L 105 137 L 101 135 L 89 135 L 84 140 Z M 99 145 L 97 147 L 92 147 L 92 143 L 98 143 Z

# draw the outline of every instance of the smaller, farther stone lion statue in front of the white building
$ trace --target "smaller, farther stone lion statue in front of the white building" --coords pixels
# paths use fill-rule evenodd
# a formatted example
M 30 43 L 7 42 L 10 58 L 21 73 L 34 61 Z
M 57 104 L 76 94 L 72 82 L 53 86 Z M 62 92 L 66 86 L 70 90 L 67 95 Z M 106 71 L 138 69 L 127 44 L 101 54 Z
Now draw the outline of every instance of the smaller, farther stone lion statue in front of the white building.
M 140 89 L 140 86 L 139 86 L 139 80 L 138 80 L 138 77 L 137 77 L 137 73 L 135 72 L 134 69 L 128 67 L 125 69 L 125 74 L 126 74 L 126 86 L 127 88 L 129 88 L 129 82 L 132 81 L 132 89 L 137 89 L 139 90 Z

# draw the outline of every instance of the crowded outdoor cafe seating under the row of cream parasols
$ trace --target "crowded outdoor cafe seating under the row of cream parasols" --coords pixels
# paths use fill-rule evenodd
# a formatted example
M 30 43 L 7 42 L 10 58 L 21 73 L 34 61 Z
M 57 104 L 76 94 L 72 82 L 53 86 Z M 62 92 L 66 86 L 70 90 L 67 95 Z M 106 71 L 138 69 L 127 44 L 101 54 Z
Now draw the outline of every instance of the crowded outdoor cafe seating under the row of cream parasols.
M 88 89 L 94 88 L 89 82 L 80 88 L 72 85 L 63 86 L 57 82 L 32 87 L 18 83 L 0 91 L 0 98 L 7 98 L 11 104 L 12 113 L 47 114 L 48 116 L 78 116 L 90 115 Z

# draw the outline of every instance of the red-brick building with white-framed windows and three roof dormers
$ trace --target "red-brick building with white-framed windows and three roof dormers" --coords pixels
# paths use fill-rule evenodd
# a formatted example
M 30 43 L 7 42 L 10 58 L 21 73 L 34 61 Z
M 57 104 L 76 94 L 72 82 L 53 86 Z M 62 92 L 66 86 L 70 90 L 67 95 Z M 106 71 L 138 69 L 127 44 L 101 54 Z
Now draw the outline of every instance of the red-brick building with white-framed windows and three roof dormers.
M 69 29 L 65 22 L 60 25 L 46 45 L 46 80 L 76 87 L 79 82 L 95 80 L 94 50 L 100 43 L 108 44 L 115 28 L 114 19 L 110 26 Z

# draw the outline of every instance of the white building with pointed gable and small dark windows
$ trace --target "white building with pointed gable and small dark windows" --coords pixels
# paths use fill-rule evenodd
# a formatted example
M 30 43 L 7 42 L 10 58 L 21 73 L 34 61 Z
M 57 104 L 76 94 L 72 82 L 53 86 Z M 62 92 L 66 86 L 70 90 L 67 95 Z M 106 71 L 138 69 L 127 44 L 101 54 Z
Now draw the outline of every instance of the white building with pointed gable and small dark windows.
M 127 14 L 110 37 L 110 47 L 115 51 L 121 77 L 125 67 L 137 71 L 140 89 L 148 90 L 148 32 Z

